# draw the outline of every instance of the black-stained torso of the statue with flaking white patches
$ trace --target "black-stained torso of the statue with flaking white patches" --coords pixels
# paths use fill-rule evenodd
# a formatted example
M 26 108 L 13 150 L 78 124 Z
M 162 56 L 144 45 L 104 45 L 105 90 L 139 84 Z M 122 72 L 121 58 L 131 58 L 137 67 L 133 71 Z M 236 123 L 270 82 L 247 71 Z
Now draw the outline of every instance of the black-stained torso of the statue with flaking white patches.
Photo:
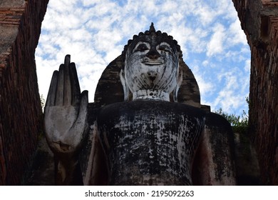
M 112 185 L 190 185 L 204 114 L 185 104 L 130 101 L 98 114 Z

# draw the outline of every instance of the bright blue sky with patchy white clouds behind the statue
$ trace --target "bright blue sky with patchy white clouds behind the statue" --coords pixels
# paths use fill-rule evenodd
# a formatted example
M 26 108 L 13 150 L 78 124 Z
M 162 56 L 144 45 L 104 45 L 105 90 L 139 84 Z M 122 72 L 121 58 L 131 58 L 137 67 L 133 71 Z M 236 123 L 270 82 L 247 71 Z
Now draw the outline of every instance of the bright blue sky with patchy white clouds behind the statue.
M 92 102 L 103 69 L 152 21 L 180 44 L 201 104 L 248 110 L 250 50 L 232 0 L 50 0 L 36 49 L 40 94 L 46 99 L 53 71 L 71 54 Z

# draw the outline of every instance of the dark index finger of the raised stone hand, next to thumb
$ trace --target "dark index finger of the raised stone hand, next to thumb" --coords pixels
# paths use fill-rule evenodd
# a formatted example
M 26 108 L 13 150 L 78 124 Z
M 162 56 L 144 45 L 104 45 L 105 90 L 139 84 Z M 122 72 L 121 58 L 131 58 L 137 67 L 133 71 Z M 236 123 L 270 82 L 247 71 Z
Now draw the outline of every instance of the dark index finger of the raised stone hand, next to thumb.
M 76 106 L 80 103 L 80 86 L 78 81 L 78 76 L 76 72 L 76 64 L 71 63 L 69 67 L 70 77 L 71 77 L 71 105 Z

